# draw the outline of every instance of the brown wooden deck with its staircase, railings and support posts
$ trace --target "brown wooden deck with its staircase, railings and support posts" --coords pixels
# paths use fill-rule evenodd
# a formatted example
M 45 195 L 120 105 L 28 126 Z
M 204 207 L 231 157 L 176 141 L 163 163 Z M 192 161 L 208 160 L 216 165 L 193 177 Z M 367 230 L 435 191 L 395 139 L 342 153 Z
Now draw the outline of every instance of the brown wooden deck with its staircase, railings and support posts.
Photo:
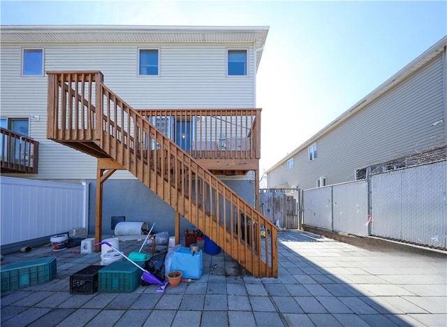
M 134 110 L 101 72 L 47 74 L 47 138 L 98 158 L 97 241 L 102 183 L 126 169 L 175 210 L 177 242 L 183 216 L 255 276 L 277 277 L 277 227 L 214 175 L 254 170 L 258 190 L 260 109 Z

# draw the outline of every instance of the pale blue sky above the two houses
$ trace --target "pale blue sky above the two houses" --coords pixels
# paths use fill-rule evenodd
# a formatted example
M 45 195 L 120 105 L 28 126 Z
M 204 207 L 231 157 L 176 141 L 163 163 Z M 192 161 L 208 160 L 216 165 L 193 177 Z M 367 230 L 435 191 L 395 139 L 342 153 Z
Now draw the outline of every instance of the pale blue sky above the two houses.
M 269 26 L 261 173 L 447 34 L 446 1 L 4 1 L 1 24 Z

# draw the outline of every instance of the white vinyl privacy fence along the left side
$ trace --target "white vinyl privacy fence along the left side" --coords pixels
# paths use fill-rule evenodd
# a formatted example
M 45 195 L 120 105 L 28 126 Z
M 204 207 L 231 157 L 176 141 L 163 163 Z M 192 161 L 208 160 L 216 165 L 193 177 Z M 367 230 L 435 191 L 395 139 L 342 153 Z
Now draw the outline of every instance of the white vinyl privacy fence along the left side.
M 87 226 L 86 183 L 1 177 L 0 186 L 2 246 Z

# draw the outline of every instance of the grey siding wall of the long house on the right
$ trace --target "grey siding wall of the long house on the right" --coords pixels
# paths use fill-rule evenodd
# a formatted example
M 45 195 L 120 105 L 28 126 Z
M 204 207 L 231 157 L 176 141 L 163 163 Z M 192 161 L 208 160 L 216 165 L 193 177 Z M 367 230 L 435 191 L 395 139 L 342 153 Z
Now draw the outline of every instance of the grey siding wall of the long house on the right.
M 356 115 L 318 138 L 318 155 L 314 161 L 308 161 L 307 147 L 295 154 L 295 167 L 288 170 L 286 177 L 288 184 L 309 189 L 316 187 L 316 179 L 321 176 L 327 177 L 328 184 L 347 182 L 355 179 L 357 169 L 446 145 L 446 122 L 432 125 L 444 119 L 446 110 L 443 68 L 443 58 L 439 54 Z

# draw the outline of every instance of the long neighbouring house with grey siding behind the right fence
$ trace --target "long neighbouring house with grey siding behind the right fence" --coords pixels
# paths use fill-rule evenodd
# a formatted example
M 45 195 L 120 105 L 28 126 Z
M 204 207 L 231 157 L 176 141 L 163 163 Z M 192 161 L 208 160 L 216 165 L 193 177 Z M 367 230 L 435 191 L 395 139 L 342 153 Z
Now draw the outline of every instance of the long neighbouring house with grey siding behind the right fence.
M 310 189 L 447 157 L 447 36 L 267 170 Z

